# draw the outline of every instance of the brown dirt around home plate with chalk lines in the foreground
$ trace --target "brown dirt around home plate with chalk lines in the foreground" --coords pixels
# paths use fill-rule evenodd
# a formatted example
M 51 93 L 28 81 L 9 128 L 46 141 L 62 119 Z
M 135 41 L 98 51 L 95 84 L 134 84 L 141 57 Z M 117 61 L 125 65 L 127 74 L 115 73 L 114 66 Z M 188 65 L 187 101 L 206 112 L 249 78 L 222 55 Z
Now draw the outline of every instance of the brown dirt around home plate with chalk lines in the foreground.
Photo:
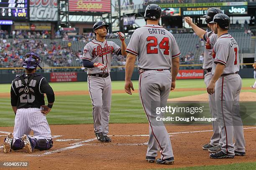
M 147 163 L 145 153 L 148 124 L 110 124 L 110 135 L 115 135 L 111 137 L 112 143 L 97 142 L 93 133 L 93 125 L 51 125 L 52 135 L 56 135 L 56 138 L 54 138 L 54 147 L 50 150 L 35 150 L 32 154 L 26 153 L 25 150 L 12 151 L 8 154 L 2 151 L 0 158 L 1 162 L 28 161 L 30 169 L 59 169 L 61 167 L 65 170 L 74 168 L 133 170 L 256 161 L 256 127 L 244 128 L 246 128 L 244 129 L 246 156 L 236 156 L 228 160 L 210 159 L 209 153 L 202 150 L 202 145 L 207 143 L 212 135 L 210 125 L 167 125 L 166 129 L 171 133 L 170 138 L 174 150 L 174 165 Z M 0 128 L 0 141 L 4 140 L 6 133 L 12 131 L 13 127 Z

